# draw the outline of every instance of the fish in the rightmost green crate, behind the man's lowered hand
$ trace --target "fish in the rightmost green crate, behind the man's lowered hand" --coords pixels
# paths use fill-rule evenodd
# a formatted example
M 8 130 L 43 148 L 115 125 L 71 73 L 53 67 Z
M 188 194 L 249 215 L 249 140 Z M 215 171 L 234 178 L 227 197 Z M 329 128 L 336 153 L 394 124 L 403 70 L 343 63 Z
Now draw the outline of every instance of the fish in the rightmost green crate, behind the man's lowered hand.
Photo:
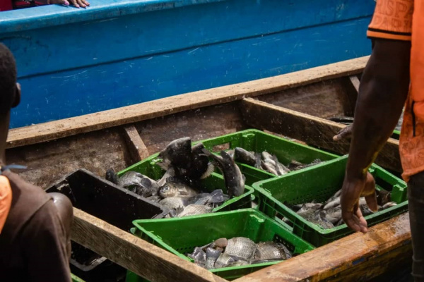
M 324 203 L 309 202 L 305 204 L 296 204 L 290 206 L 296 214 L 299 214 L 307 221 L 310 221 L 323 229 L 330 229 L 336 226 L 341 226 L 344 221 L 341 218 L 341 204 L 340 204 L 341 190 L 329 198 Z M 378 210 L 388 209 L 396 205 L 396 202 L 391 202 L 390 192 L 385 190 L 377 191 L 377 203 L 379 204 Z M 359 199 L 359 207 L 363 216 L 372 214 L 372 210 L 367 206 L 365 197 Z M 288 219 L 283 219 L 286 223 L 290 223 Z

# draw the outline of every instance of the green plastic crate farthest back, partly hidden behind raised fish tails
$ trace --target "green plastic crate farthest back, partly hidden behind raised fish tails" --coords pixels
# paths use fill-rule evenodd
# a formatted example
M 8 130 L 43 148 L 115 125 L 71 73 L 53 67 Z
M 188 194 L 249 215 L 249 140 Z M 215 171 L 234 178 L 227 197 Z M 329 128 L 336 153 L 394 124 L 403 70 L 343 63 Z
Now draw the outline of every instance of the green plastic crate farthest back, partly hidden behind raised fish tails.
M 301 145 L 297 142 L 256 129 L 243 130 L 199 142 L 202 142 L 206 149 L 209 149 L 211 152 L 220 152 L 223 149 L 234 149 L 235 147 L 242 147 L 247 151 L 253 152 L 266 151 L 270 154 L 275 154 L 278 161 L 284 165 L 290 164 L 292 160 L 300 161 L 303 164 L 310 164 L 314 159 L 328 161 L 339 157 L 335 154 Z M 253 185 L 253 183 L 258 181 L 277 177 L 272 173 L 262 171 L 247 164 L 238 163 L 238 166 L 246 176 L 247 185 Z

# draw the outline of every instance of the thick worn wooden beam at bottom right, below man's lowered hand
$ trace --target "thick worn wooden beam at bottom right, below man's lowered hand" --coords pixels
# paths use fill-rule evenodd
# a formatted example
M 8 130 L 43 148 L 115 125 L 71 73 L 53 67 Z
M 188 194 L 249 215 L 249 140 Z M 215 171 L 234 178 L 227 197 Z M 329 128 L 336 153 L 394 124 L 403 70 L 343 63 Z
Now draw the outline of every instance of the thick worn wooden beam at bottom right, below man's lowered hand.
M 406 213 L 372 226 L 366 234 L 349 235 L 235 281 L 367 281 L 410 255 L 411 231 Z M 371 270 L 370 266 L 377 269 Z

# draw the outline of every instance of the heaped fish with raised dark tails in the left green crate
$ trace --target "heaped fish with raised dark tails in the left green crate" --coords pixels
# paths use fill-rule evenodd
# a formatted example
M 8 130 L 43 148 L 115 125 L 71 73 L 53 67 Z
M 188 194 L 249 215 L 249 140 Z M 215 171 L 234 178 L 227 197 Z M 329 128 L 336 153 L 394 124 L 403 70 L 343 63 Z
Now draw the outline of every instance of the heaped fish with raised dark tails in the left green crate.
M 165 174 L 158 180 L 136 171 L 128 171 L 118 178 L 112 169 L 107 170 L 106 179 L 167 207 L 171 217 L 206 214 L 245 192 L 245 176 L 226 152 L 216 155 L 201 143 L 192 146 L 189 137 L 170 142 L 159 158 L 157 164 Z M 211 176 L 216 166 L 223 173 L 228 195 L 223 190 L 202 191 L 201 180 Z

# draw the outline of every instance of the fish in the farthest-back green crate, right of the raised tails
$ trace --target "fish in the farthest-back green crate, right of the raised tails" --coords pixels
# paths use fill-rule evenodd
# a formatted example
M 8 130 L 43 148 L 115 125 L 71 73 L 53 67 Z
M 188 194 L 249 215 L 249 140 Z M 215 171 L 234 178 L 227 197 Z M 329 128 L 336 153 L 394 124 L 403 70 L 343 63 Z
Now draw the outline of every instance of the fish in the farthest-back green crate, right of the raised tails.
M 249 152 L 243 148 L 235 147 L 235 149 L 228 151 L 228 154 L 232 156 L 234 161 L 238 161 L 242 164 L 247 164 L 249 166 L 254 166 L 255 168 L 268 171 L 276 176 L 283 176 L 290 171 L 297 171 L 299 169 L 314 166 L 322 162 L 320 159 L 315 159 L 311 164 L 302 164 L 298 161 L 291 161 L 288 166 L 281 164 L 278 161 L 276 155 L 269 154 L 269 152 Z

